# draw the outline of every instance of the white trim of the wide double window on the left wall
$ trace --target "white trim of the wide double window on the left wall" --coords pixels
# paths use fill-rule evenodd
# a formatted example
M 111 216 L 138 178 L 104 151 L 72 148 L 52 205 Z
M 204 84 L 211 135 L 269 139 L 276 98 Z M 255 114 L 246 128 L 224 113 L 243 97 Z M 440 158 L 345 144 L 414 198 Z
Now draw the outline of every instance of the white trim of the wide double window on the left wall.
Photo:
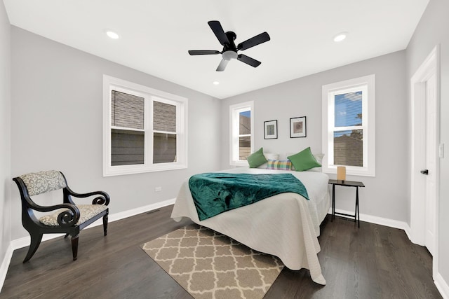
M 164 102 L 176 105 L 176 129 L 177 129 L 177 161 L 152 164 L 153 141 L 149 134 L 145 134 L 145 164 L 143 165 L 116 165 L 111 166 L 111 91 L 133 92 L 145 98 L 145 111 L 152 111 L 149 107 L 152 101 Z M 172 95 L 168 92 L 155 90 L 144 85 L 139 85 L 112 76 L 103 75 L 103 176 L 117 176 L 122 174 L 139 174 L 144 172 L 161 172 L 173 169 L 187 168 L 187 98 Z M 129 128 L 126 128 L 129 130 Z M 145 130 L 154 132 L 152 128 L 152 115 L 145 116 Z M 173 133 L 173 132 L 170 132 Z M 150 151 L 151 149 L 151 151 Z

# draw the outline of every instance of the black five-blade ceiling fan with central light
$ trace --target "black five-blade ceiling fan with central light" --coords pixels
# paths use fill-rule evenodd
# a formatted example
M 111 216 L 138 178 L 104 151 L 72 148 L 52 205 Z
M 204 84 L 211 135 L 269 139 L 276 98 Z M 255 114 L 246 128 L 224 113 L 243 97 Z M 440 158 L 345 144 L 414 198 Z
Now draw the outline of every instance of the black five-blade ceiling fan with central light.
M 254 46 L 257 46 L 260 43 L 264 43 L 265 41 L 269 41 L 269 35 L 267 34 L 267 32 L 262 32 L 261 34 L 253 36 L 252 38 L 247 39 L 246 41 L 243 41 L 236 46 L 236 44 L 234 43 L 236 39 L 236 34 L 234 32 L 232 31 L 225 32 L 225 30 L 223 30 L 222 28 L 222 25 L 218 21 L 209 21 L 208 25 L 210 29 L 212 29 L 215 36 L 217 36 L 218 41 L 220 41 L 220 43 L 222 44 L 223 50 L 221 52 L 217 50 L 189 50 L 190 55 L 221 54 L 222 61 L 220 62 L 220 64 L 218 64 L 217 71 L 225 71 L 227 63 L 229 62 L 229 60 L 232 59 L 245 62 L 246 64 L 249 64 L 251 67 L 258 67 L 260 65 L 261 63 L 260 61 L 257 61 L 244 54 L 237 54 L 237 51 L 239 50 L 243 51 L 252 48 Z

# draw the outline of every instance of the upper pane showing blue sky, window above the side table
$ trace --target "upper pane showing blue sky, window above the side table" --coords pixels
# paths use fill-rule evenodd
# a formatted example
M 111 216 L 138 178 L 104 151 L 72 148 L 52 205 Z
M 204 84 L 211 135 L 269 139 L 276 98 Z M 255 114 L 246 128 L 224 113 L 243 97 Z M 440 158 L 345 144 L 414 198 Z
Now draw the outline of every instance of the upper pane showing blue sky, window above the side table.
M 335 95 L 335 127 L 362 125 L 362 92 Z

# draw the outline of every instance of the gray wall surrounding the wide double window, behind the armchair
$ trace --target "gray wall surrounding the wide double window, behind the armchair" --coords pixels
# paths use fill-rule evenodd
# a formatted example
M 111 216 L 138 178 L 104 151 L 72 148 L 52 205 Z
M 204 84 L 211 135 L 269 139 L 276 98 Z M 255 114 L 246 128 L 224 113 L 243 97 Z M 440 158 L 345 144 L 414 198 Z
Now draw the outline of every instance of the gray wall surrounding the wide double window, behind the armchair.
M 18 27 L 11 27 L 11 69 L 12 176 L 60 169 L 75 191 L 107 191 L 115 214 L 173 199 L 190 175 L 219 169 L 218 99 Z M 102 177 L 103 74 L 189 99 L 188 169 Z M 155 193 L 157 186 L 162 191 Z M 27 233 L 17 188 L 11 196 L 11 236 L 18 239 Z

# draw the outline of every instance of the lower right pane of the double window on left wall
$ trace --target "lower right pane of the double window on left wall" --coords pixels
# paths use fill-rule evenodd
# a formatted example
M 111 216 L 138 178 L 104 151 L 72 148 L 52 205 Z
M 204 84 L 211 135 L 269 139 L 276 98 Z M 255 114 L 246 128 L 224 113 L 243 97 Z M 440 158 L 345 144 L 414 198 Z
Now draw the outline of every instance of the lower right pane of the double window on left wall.
M 154 133 L 154 164 L 176 162 L 176 137 L 176 134 Z

